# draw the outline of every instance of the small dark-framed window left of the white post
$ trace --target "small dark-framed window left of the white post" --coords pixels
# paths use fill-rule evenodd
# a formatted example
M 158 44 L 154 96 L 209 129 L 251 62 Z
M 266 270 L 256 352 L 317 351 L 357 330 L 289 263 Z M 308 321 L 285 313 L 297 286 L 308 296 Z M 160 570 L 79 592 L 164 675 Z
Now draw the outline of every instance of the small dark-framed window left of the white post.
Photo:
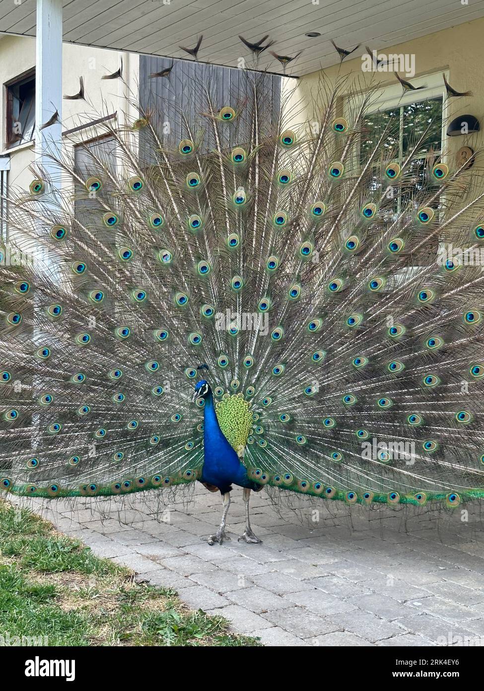
M 35 70 L 6 84 L 6 149 L 32 142 L 35 131 Z

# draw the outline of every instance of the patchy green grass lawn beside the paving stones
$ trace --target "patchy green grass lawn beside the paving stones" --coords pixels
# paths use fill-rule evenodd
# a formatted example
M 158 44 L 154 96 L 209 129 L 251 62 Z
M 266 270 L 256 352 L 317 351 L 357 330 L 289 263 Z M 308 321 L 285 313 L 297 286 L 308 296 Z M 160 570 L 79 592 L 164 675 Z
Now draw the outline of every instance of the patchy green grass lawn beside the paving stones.
M 260 645 L 0 500 L 0 635 L 44 645 Z

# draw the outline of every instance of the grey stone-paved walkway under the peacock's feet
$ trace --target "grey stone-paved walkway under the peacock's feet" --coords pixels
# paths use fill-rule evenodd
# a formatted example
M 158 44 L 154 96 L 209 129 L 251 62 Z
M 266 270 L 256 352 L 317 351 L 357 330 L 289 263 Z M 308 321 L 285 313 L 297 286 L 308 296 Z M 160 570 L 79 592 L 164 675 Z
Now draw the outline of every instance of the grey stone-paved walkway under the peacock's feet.
M 213 547 L 206 536 L 220 521 L 220 495 L 202 486 L 190 504 L 173 502 L 162 522 L 155 495 L 128 510 L 117 500 L 94 511 L 90 500 L 75 500 L 72 511 L 58 500 L 39 513 L 99 556 L 173 587 L 189 606 L 222 614 L 265 645 L 483 645 L 480 507 L 405 522 L 401 510 L 350 511 L 296 497 L 300 508 L 281 516 L 261 493 L 252 495 L 251 520 L 264 542 L 246 545 L 237 541 L 242 491 L 232 498 L 232 540 Z

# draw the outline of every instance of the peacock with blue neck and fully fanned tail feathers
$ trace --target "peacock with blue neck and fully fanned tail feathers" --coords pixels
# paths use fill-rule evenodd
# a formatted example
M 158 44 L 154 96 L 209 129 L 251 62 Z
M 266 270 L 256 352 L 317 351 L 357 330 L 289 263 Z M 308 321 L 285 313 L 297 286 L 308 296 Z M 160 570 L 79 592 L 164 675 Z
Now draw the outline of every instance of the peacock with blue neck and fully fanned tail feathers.
M 369 125 L 378 85 L 322 77 L 304 117 L 293 89 L 273 108 L 244 74 L 224 101 L 193 84 L 203 107 L 176 108 L 177 127 L 135 102 L 99 125 L 109 151 L 64 152 L 10 194 L 1 489 L 201 482 L 222 495 L 211 545 L 233 485 L 249 543 L 251 491 L 269 487 L 374 508 L 484 498 L 481 173 L 427 146 L 431 124 L 399 153 L 398 113 Z

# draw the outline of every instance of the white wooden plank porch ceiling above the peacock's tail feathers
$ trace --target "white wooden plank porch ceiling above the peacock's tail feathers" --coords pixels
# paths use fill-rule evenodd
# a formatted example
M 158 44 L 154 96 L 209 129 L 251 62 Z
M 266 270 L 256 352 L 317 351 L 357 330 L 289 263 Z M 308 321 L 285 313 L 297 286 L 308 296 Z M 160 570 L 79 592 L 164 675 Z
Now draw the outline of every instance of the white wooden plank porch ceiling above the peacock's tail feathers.
M 0 32 L 35 36 L 35 0 L 0 0 Z M 238 59 L 255 66 L 238 34 L 275 40 L 272 50 L 294 55 L 304 49 L 288 74 L 304 75 L 338 62 L 329 39 L 362 55 L 365 44 L 385 51 L 409 39 L 484 16 L 484 0 L 64 0 L 64 41 L 188 57 L 179 48 L 204 40 L 200 61 L 230 67 Z M 308 38 L 309 31 L 320 36 Z M 282 72 L 269 51 L 259 69 Z

